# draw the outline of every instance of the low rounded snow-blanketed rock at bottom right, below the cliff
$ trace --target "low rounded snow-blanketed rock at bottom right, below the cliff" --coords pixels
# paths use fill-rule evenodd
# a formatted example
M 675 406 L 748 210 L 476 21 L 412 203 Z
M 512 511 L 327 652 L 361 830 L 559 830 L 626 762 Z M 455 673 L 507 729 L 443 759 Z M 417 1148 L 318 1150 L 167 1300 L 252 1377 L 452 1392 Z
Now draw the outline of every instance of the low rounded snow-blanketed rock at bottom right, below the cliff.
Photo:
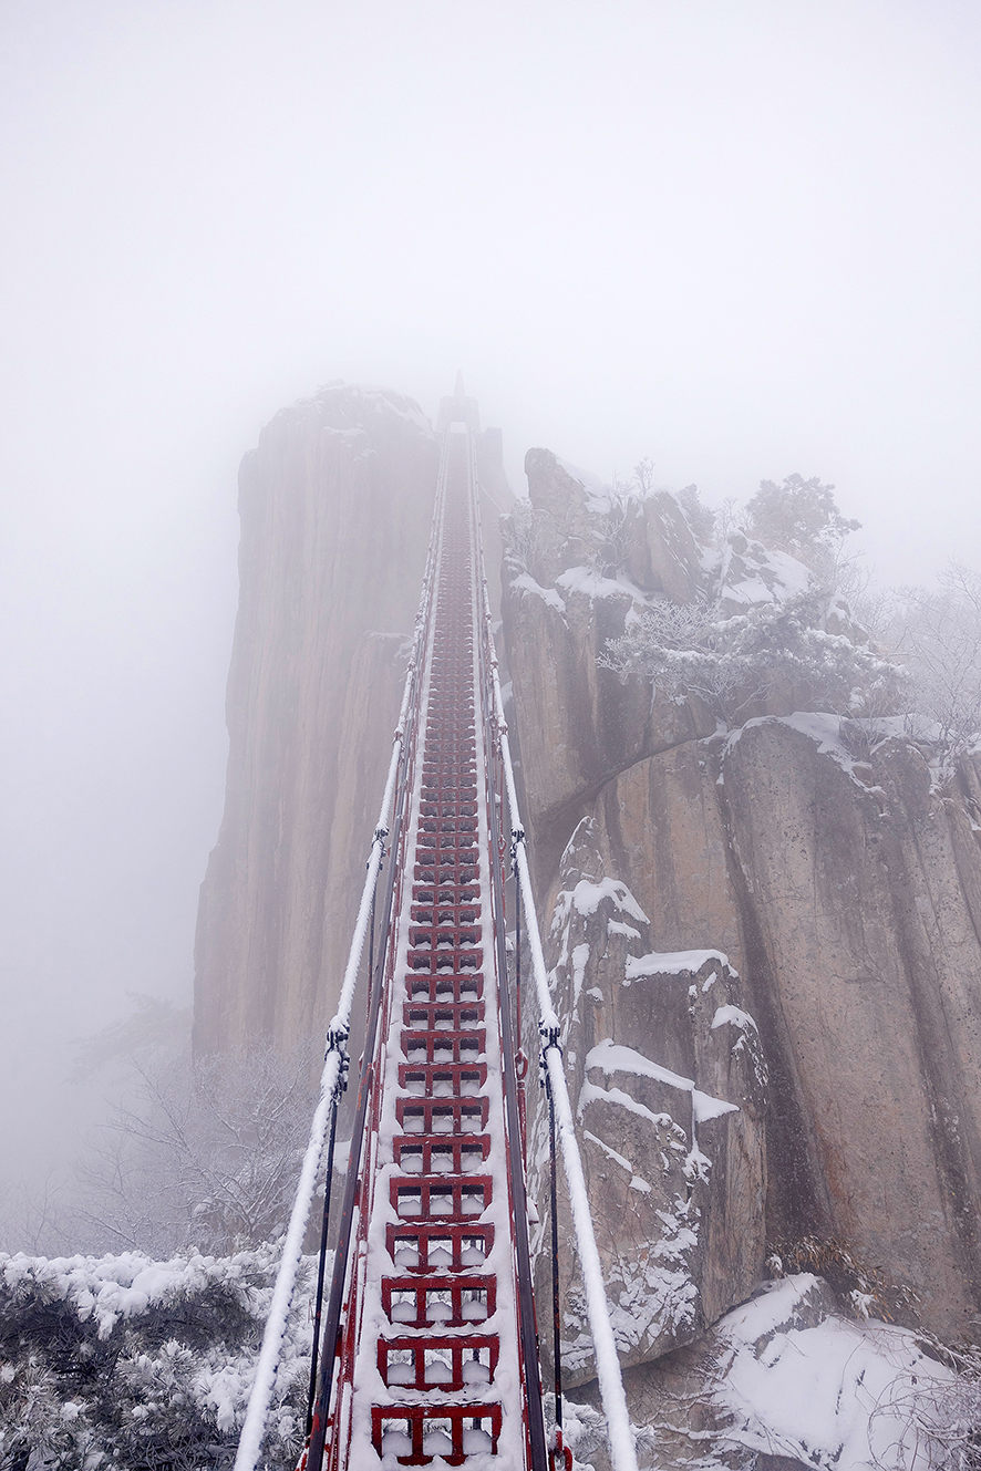
M 641 1468 L 966 1465 L 950 1452 L 968 1449 L 981 1409 L 977 1381 L 957 1378 L 903 1328 L 843 1317 L 810 1274 L 766 1283 L 685 1356 L 632 1375 L 629 1389 Z M 577 1455 L 596 1445 L 597 1428 L 590 1408 L 577 1406 Z

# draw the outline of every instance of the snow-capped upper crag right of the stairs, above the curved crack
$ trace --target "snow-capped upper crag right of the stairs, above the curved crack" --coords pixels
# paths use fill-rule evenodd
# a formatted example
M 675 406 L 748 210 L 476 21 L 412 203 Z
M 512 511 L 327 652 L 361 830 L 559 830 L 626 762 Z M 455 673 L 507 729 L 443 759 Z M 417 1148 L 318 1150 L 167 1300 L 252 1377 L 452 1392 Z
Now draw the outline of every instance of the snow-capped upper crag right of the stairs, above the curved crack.
M 706 577 L 681 507 L 666 493 L 628 506 L 618 534 L 631 578 L 604 577 L 609 549 L 597 524 L 609 510 L 602 497 L 549 450 L 529 450 L 525 468 L 534 519 L 525 568 L 504 566 L 502 613 L 525 788 L 554 871 L 585 793 L 641 758 L 715 728 L 690 706 L 672 706 L 654 721 L 649 684 L 621 683 L 597 665 L 607 640 L 624 633 L 635 593 L 690 600 Z M 525 710 L 534 710 L 529 725 Z

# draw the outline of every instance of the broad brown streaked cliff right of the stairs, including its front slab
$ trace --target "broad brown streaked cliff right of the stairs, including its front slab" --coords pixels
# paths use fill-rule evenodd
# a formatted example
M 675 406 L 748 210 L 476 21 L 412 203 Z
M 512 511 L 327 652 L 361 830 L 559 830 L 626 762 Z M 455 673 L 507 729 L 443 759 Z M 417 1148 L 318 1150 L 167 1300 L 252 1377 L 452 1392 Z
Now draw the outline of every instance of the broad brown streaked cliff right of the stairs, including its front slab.
M 787 709 L 728 734 L 687 706 L 662 713 L 647 681 L 621 684 L 596 655 L 643 593 L 629 558 L 659 544 L 682 560 L 674 583 L 657 572 L 660 590 L 704 585 L 694 544 L 644 530 L 627 577 L 590 581 L 572 562 L 588 547 L 590 493 L 569 488 L 566 522 L 574 475 L 546 452 L 528 472 L 537 546 L 524 568 L 506 563 L 504 640 L 547 962 L 571 1016 L 566 1069 L 625 1359 L 690 1342 L 765 1275 L 765 1242 L 802 1236 L 912 1287 L 938 1334 L 977 1337 L 981 763 L 940 794 L 909 741 L 855 761 L 834 716 Z M 597 888 L 591 911 L 571 897 Z M 709 950 L 727 962 L 685 953 Z M 709 1164 L 691 1161 L 690 1100 L 622 1049 L 737 1105 L 696 1124 Z M 628 1066 L 604 1071 L 612 1062 Z M 532 1137 L 541 1164 L 541 1111 Z M 563 1218 L 566 1255 L 568 1228 Z M 575 1290 L 563 1333 L 587 1378 Z

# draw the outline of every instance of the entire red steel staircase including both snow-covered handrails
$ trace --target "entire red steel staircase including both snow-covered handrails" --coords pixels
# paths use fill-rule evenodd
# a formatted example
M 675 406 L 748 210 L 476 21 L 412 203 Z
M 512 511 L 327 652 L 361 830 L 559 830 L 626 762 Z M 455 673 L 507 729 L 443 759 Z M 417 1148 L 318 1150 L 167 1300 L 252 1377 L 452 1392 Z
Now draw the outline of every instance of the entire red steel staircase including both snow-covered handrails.
M 507 975 L 507 872 L 528 918 L 541 1077 L 569 1183 L 612 1464 L 615 1471 L 637 1465 L 518 815 L 484 580 L 477 406 L 459 378 L 441 419 L 413 655 L 235 1471 L 269 1464 L 266 1415 L 328 1136 L 328 1175 L 334 1155 L 366 940 L 365 1055 L 322 1334 L 318 1286 L 300 1471 L 429 1464 L 566 1471 L 572 1464 L 559 1422 L 546 1443 L 525 1196 L 527 1061 Z M 327 1203 L 329 1187 L 324 1246 Z M 556 1380 L 556 1405 L 557 1389 Z

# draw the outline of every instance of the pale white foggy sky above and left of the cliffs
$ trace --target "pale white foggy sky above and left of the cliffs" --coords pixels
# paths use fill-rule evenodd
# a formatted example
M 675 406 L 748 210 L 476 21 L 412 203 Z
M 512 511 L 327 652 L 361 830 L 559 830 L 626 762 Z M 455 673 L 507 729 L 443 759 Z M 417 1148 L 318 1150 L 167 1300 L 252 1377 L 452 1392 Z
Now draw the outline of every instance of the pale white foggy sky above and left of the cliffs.
M 0 1174 L 190 994 L 282 403 L 462 368 L 515 481 L 821 474 L 885 580 L 981 562 L 980 60 L 977 0 L 0 0 Z

